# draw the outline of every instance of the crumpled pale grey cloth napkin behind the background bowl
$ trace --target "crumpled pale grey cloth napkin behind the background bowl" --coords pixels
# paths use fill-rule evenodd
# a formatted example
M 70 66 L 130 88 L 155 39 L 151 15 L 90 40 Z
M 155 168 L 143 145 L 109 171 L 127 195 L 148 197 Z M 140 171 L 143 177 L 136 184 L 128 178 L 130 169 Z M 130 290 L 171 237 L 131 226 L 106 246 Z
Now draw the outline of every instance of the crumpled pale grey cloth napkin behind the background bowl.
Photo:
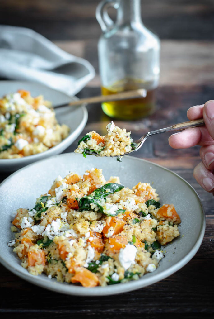
M 36 81 L 74 95 L 94 76 L 88 61 L 63 51 L 39 33 L 0 26 L 0 77 Z

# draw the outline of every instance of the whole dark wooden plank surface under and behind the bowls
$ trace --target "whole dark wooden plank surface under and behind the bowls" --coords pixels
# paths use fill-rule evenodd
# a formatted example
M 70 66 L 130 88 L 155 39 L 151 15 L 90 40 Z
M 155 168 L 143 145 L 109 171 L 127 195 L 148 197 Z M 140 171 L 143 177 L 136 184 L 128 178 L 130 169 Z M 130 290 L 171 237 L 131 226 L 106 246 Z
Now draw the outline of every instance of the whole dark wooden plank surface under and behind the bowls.
M 64 50 L 88 59 L 97 75 L 77 96 L 93 96 L 100 93 L 96 54 L 100 30 L 94 16 L 98 2 L 2 0 L 0 23 L 32 27 Z M 161 78 L 157 109 L 152 116 L 135 122 L 115 121 L 131 130 L 134 139 L 146 131 L 187 120 L 189 107 L 214 98 L 213 1 L 144 0 L 142 4 L 146 25 L 161 37 Z M 89 106 L 88 112 L 82 134 L 92 129 L 103 134 L 103 124 L 110 118 L 103 114 L 100 105 Z M 77 140 L 65 152 L 72 152 Z M 150 137 L 135 156 L 168 167 L 199 194 L 206 212 L 206 231 L 193 259 L 175 274 L 149 287 L 93 298 L 53 293 L 25 282 L 0 265 L 1 318 L 213 317 L 214 198 L 192 175 L 200 161 L 199 147 L 173 150 L 168 145 L 167 134 L 157 135 Z M 1 174 L 1 181 L 7 176 Z

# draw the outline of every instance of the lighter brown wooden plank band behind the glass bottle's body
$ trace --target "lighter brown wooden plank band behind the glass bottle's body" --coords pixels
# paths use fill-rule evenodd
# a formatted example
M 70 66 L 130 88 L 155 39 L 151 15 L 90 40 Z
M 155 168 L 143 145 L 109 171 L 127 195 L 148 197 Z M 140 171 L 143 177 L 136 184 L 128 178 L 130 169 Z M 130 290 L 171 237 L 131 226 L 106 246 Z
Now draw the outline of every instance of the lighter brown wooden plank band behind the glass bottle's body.
M 214 1 L 213 1 L 214 2 Z M 54 41 L 63 50 L 87 59 L 96 76 L 87 86 L 100 85 L 97 40 Z M 162 40 L 160 85 L 214 85 L 214 41 Z M 180 88 L 181 89 L 181 88 Z

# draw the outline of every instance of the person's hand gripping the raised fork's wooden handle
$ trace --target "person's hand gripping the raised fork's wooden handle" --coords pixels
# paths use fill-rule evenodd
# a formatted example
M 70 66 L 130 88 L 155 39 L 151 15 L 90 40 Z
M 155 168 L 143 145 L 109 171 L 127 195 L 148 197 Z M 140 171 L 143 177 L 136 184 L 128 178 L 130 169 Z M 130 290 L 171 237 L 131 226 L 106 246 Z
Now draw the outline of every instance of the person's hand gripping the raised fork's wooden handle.
M 200 145 L 201 163 L 193 176 L 207 192 L 214 195 L 214 100 L 204 105 L 197 105 L 187 111 L 189 120 L 204 119 L 205 126 L 186 129 L 169 137 L 169 145 L 173 148 L 188 148 Z

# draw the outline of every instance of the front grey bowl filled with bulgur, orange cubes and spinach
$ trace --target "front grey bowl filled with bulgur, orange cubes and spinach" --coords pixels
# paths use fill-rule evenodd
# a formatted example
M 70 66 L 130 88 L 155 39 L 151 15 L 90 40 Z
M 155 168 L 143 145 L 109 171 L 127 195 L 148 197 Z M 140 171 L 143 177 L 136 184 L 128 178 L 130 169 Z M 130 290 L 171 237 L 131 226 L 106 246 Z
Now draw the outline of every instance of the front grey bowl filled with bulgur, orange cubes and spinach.
M 0 200 L 1 263 L 61 293 L 107 295 L 157 282 L 195 255 L 204 234 L 192 187 L 129 156 L 111 168 L 106 157 L 74 153 L 33 163 L 0 185 Z

